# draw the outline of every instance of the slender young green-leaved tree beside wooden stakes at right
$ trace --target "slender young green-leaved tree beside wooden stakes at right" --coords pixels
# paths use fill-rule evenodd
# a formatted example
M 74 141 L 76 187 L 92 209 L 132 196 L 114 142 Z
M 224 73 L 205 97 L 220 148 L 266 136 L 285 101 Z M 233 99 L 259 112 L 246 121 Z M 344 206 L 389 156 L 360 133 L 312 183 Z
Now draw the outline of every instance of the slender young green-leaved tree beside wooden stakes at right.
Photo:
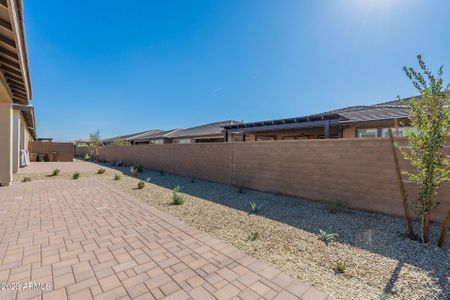
M 409 149 L 402 151 L 413 169 L 409 178 L 419 188 L 416 212 L 421 221 L 421 240 L 429 242 L 431 211 L 439 205 L 434 196 L 442 182 L 448 180 L 449 158 L 444 145 L 450 130 L 449 85 L 444 86 L 441 66 L 437 77 L 417 56 L 420 71 L 403 67 L 406 76 L 419 91 L 420 97 L 407 102 L 413 130 L 407 132 Z

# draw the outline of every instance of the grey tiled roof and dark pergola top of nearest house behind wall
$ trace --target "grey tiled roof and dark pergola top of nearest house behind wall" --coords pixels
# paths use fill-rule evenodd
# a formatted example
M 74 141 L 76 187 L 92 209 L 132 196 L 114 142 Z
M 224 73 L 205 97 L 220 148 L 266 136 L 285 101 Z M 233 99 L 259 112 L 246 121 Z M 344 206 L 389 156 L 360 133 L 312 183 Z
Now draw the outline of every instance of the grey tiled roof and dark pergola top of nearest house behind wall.
M 408 98 L 409 99 L 409 98 Z M 317 120 L 339 120 L 340 124 L 380 121 L 392 119 L 408 118 L 408 109 L 404 102 L 408 99 L 400 99 L 388 102 L 382 102 L 373 105 L 357 105 L 330 110 L 316 115 L 309 115 L 297 118 L 278 119 L 270 121 L 259 121 L 241 123 L 232 126 L 226 126 L 226 129 L 258 127 L 268 125 L 282 125 L 289 123 L 302 123 Z

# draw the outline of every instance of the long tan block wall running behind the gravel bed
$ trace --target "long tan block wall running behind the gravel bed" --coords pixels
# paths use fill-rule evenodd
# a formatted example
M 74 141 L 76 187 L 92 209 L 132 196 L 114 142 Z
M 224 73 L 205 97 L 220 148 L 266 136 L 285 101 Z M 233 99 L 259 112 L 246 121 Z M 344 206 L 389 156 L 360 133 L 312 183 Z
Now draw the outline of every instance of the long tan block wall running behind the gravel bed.
M 384 138 L 105 147 L 100 157 L 260 191 L 339 200 L 353 208 L 403 215 L 390 143 Z M 408 163 L 402 160 L 401 166 L 407 168 Z M 413 200 L 414 186 L 406 186 Z M 450 208 L 448 183 L 438 198 L 441 205 L 432 219 L 441 222 Z

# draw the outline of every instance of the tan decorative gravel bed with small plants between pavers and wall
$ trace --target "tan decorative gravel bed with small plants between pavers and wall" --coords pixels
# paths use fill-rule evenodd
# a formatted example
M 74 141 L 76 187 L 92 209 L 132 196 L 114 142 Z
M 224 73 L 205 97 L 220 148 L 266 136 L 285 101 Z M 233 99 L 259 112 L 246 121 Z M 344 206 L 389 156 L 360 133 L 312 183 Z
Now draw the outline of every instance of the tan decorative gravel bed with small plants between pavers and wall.
M 449 243 L 441 249 L 435 240 L 429 245 L 410 241 L 399 218 L 346 208 L 332 213 L 325 203 L 116 169 L 82 173 L 79 180 L 104 180 L 338 299 L 450 299 Z M 120 180 L 113 180 L 116 173 Z M 24 176 L 37 180 L 71 174 L 21 174 L 16 181 Z M 148 181 L 143 189 L 136 188 L 139 180 Z M 177 185 L 182 205 L 171 204 Z M 257 214 L 251 213 L 250 202 L 261 207 Z M 318 237 L 320 229 L 328 228 L 338 237 L 326 245 Z M 434 238 L 439 230 L 432 228 Z M 338 263 L 345 264 L 343 273 L 336 271 Z

